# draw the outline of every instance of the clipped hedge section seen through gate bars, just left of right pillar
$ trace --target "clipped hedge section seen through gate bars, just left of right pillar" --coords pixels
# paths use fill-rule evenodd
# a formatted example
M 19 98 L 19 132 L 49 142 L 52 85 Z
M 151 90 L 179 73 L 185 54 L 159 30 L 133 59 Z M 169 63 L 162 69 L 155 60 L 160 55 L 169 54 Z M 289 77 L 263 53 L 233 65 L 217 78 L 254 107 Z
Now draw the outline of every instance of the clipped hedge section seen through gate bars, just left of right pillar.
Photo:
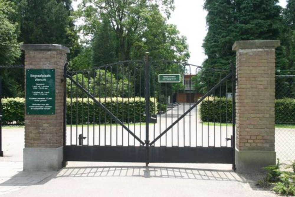
M 215 105 L 215 109 L 214 109 Z M 227 107 L 227 110 L 226 110 Z M 215 115 L 214 115 L 215 110 Z M 227 112 L 227 113 L 226 113 Z M 227 116 L 226 116 L 227 114 Z M 201 102 L 201 120 L 203 122 L 232 122 L 232 100 L 225 97 L 217 98 L 215 100 L 209 97 Z

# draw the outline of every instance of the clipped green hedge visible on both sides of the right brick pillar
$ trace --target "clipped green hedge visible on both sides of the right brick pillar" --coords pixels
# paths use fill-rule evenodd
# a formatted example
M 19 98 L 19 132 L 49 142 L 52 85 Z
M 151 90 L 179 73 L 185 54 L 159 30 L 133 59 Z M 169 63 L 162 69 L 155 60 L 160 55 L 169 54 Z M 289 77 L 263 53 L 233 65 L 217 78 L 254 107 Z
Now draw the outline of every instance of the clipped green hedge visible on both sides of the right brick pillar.
M 215 122 L 226 122 L 226 98 L 215 98 Z M 208 110 L 209 109 L 209 110 Z M 227 120 L 232 122 L 232 100 L 227 100 Z M 276 123 L 294 124 L 295 122 L 295 99 L 285 98 L 275 100 Z M 214 100 L 209 98 L 201 103 L 201 120 L 214 122 Z

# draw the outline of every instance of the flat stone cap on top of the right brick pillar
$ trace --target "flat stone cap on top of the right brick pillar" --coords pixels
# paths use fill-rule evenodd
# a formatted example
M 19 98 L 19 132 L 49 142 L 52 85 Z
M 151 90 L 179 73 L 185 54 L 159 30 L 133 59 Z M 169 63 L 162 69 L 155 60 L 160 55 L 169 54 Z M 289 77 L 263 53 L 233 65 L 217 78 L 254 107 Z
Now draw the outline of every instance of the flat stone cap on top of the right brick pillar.
M 276 48 L 280 45 L 280 40 L 240 40 L 235 41 L 232 50 L 255 49 L 255 48 Z

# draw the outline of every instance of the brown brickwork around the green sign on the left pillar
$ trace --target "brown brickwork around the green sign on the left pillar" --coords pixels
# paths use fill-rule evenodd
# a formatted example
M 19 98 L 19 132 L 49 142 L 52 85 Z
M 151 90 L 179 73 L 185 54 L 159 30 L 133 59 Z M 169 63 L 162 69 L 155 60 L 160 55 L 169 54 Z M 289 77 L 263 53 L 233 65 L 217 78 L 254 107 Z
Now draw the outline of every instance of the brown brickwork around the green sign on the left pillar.
M 55 69 L 55 115 L 25 114 L 25 147 L 63 146 L 63 67 L 62 50 L 25 51 L 25 69 Z M 26 73 L 26 72 L 25 72 Z M 26 79 L 26 77 L 25 77 Z

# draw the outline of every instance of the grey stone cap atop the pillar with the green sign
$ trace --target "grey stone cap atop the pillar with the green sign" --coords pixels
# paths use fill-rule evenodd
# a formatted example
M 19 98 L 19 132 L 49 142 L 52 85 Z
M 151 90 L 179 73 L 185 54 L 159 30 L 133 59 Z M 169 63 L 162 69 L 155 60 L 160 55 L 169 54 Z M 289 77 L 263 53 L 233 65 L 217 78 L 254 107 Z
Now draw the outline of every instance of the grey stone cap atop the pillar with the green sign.
M 63 51 L 64 53 L 70 53 L 70 49 L 59 44 L 26 44 L 20 46 L 24 51 Z

